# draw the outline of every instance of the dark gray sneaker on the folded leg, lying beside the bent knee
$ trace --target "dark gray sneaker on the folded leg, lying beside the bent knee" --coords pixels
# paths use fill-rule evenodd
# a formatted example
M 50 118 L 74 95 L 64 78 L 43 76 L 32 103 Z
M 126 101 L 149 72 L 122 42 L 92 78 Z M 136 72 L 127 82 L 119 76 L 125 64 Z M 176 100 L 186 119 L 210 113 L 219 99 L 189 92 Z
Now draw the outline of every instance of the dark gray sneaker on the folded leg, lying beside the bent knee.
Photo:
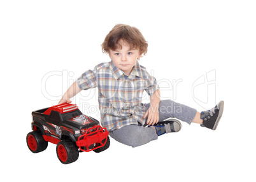
M 181 123 L 175 119 L 164 120 L 150 127 L 154 127 L 157 135 L 167 134 L 169 132 L 178 132 L 181 129 Z

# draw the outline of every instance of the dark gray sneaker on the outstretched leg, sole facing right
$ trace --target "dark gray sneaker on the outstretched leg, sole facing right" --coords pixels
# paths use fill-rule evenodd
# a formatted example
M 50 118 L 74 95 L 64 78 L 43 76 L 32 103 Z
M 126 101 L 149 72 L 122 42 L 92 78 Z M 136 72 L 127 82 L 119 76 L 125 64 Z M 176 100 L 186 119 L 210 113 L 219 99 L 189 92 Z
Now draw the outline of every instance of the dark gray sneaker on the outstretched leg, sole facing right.
M 220 101 L 214 108 L 201 112 L 201 119 L 203 119 L 203 125 L 201 125 L 201 127 L 216 130 L 218 122 L 220 122 L 220 118 L 222 117 L 223 110 L 224 101 Z

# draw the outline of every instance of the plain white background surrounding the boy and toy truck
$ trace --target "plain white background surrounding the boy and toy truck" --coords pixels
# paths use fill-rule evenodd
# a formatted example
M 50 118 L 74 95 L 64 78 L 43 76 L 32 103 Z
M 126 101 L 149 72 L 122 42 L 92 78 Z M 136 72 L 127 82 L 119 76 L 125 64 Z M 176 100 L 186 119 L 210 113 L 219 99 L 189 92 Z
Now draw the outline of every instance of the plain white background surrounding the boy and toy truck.
M 255 181 L 255 8 L 254 1 L 1 1 L 1 181 Z M 161 81 L 162 99 L 198 111 L 225 101 L 218 129 L 182 123 L 138 148 L 111 139 L 108 150 L 80 153 L 69 165 L 54 144 L 31 153 L 31 112 L 57 104 L 80 74 L 110 61 L 101 43 L 119 23 L 148 41 L 140 64 Z M 73 103 L 99 120 L 96 89 Z

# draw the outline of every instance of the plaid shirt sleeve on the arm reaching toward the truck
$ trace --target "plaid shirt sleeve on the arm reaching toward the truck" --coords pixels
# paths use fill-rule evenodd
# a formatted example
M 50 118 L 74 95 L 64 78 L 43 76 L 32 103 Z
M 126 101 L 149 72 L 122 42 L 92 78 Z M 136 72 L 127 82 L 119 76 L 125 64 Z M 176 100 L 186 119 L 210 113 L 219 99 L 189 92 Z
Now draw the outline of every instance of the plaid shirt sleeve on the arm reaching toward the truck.
M 78 84 L 78 87 L 83 90 L 87 90 L 89 88 L 95 88 L 97 87 L 97 78 L 96 78 L 96 70 L 88 70 L 83 73 L 78 80 L 76 80 L 76 83 Z

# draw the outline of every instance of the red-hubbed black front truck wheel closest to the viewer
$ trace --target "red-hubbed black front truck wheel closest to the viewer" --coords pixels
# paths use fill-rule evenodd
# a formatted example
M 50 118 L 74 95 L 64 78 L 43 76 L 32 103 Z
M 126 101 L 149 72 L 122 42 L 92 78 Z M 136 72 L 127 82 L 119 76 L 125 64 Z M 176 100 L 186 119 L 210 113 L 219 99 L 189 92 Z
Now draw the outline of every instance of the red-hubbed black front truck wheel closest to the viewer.
M 76 144 L 73 141 L 60 141 L 56 147 L 57 157 L 62 164 L 75 162 L 79 157 L 79 152 Z

